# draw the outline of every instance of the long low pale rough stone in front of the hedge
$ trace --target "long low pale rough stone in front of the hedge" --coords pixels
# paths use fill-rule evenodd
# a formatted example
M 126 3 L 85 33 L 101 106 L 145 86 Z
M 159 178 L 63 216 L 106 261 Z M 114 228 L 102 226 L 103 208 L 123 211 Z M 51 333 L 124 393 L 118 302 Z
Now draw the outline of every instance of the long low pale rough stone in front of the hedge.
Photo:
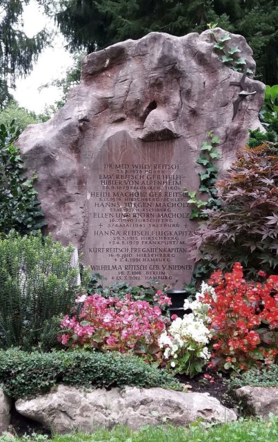
M 139 390 L 93 390 L 85 392 L 75 387 L 59 385 L 57 392 L 15 404 L 23 416 L 34 419 L 54 432 L 69 430 L 92 432 L 117 424 L 136 430 L 142 425 L 158 425 L 167 421 L 186 425 L 199 417 L 208 422 L 235 421 L 232 410 L 221 405 L 209 394 L 183 393 L 162 388 Z

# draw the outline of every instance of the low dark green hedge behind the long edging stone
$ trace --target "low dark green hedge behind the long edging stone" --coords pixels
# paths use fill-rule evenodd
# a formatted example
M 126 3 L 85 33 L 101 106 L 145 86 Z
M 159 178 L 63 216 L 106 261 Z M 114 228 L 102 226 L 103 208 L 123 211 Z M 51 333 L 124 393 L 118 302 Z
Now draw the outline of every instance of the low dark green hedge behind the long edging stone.
M 182 390 L 181 384 L 163 369 L 137 356 L 117 352 L 75 350 L 52 353 L 0 351 L 0 386 L 12 398 L 45 393 L 58 383 L 83 387 L 163 387 Z

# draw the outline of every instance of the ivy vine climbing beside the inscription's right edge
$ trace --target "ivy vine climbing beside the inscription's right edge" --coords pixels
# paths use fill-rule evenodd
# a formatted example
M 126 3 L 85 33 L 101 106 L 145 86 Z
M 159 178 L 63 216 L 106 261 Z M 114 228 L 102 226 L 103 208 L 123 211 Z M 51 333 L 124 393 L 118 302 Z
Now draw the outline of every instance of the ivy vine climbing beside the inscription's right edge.
M 202 209 L 213 209 L 219 207 L 221 204 L 217 199 L 217 189 L 215 188 L 218 171 L 217 167 L 213 164 L 213 160 L 219 160 L 221 157 L 215 147 L 217 144 L 219 144 L 219 138 L 213 135 L 212 132 L 209 132 L 208 140 L 203 141 L 201 144 L 201 154 L 197 158 L 197 163 L 203 166 L 203 171 L 199 172 L 199 190 L 183 190 L 183 193 L 189 196 L 188 203 L 192 204 L 190 220 L 194 220 L 195 218 L 206 220 L 208 215 L 203 213 Z M 208 193 L 208 199 L 204 200 L 203 198 L 199 198 L 201 193 Z

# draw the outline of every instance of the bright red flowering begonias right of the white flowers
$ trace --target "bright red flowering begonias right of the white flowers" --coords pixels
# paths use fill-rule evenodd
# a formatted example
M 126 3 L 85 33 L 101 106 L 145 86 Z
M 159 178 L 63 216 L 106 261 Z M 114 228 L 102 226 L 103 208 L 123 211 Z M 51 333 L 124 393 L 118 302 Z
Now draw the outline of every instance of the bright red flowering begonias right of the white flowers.
M 261 278 L 266 277 L 259 271 Z M 199 297 L 208 308 L 213 353 L 210 366 L 248 369 L 259 360 L 271 363 L 277 351 L 278 276 L 246 282 L 236 262 L 231 273 L 212 273 L 213 286 Z M 262 327 L 263 325 L 263 327 Z

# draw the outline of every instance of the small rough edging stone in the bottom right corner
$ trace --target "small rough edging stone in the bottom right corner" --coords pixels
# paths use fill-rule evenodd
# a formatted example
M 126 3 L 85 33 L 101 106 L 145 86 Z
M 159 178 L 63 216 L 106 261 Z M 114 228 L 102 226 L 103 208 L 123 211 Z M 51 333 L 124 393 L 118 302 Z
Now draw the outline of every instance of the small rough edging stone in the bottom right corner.
M 235 390 L 238 398 L 244 401 L 248 411 L 255 416 L 268 419 L 269 413 L 278 416 L 278 387 L 245 387 Z

